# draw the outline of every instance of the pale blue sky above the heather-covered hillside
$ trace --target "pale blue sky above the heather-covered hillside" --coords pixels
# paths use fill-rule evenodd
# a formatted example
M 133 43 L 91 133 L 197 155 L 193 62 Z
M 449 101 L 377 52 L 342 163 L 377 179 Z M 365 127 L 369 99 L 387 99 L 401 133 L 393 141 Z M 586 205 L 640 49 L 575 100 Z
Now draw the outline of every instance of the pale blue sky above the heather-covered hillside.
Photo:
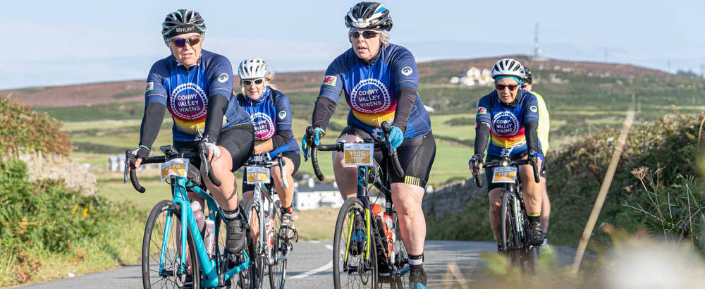
M 343 17 L 357 1 L 10 1 L 0 90 L 145 78 L 168 55 L 161 21 L 202 13 L 204 49 L 236 66 L 259 56 L 278 71 L 324 70 L 349 47 Z M 670 71 L 705 63 L 705 1 L 383 1 L 392 42 L 417 61 L 531 54 Z M 531 4 L 531 6 L 529 6 Z

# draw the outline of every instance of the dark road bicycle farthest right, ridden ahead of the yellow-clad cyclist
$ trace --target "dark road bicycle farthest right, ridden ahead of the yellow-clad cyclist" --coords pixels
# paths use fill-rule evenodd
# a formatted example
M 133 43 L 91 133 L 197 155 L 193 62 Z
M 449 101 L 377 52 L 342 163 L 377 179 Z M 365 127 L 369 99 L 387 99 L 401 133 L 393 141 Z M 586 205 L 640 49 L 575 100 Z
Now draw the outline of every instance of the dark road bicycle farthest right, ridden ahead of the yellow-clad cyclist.
M 534 180 L 539 183 L 536 156 L 528 159 L 510 159 L 504 154 L 501 159 L 495 159 L 483 164 L 483 168 L 494 168 L 492 183 L 501 183 L 500 222 L 501 222 L 501 252 L 507 254 L 510 265 L 517 266 L 525 273 L 535 273 L 535 263 L 539 257 L 541 246 L 529 243 L 529 218 L 524 204 L 524 194 L 521 181 L 517 178 L 519 166 L 531 164 L 534 169 Z M 478 187 L 482 187 L 479 178 L 479 165 L 472 163 L 472 177 Z

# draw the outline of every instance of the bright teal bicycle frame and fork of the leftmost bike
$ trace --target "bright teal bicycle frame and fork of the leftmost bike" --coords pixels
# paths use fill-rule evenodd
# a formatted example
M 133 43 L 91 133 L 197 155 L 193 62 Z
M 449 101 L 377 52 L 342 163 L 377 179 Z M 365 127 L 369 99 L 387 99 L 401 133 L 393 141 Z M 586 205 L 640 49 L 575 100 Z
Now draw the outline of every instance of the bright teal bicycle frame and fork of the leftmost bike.
M 195 185 L 191 180 L 188 178 L 184 178 L 183 176 L 170 176 L 169 177 L 170 183 L 171 183 L 171 191 L 173 192 L 173 202 L 174 204 L 179 204 L 181 207 L 181 255 L 180 255 L 180 273 L 185 273 L 186 270 L 186 229 L 189 228 L 191 230 L 191 235 L 193 235 L 193 240 L 194 240 L 194 247 L 196 250 L 196 257 L 198 258 L 198 263 L 200 264 L 200 269 L 203 274 L 203 278 L 201 281 L 201 285 L 204 288 L 216 288 L 219 286 L 219 274 L 218 274 L 218 268 L 221 265 L 221 262 L 224 262 L 223 259 L 219 258 L 221 256 L 220 254 L 220 249 L 219 246 L 217 245 L 217 240 L 216 240 L 216 257 L 214 260 L 208 258 L 208 254 L 206 252 L 206 248 L 203 244 L 203 238 L 201 236 L 200 231 L 198 230 L 198 225 L 196 223 L 196 219 L 193 216 L 193 211 L 191 209 L 191 202 L 188 199 L 188 194 L 186 192 L 186 188 L 188 187 L 190 190 L 193 192 L 196 192 L 198 195 L 203 197 L 206 202 L 208 203 L 208 208 L 209 208 L 209 218 L 212 220 L 216 219 L 216 214 L 219 216 L 223 216 L 223 211 L 218 207 L 218 204 L 216 203 L 216 200 L 209 195 L 207 192 L 202 190 L 200 187 Z M 211 209 L 213 208 L 213 209 Z M 167 240 L 169 238 L 169 233 L 171 232 L 171 212 L 168 212 L 166 214 L 166 228 L 164 229 L 164 239 L 162 240 L 161 243 L 161 254 L 159 256 L 159 275 L 162 275 L 162 271 L 164 270 L 164 263 L 166 261 L 166 246 L 168 244 Z M 226 221 L 227 222 L 227 221 Z M 187 226 L 188 225 L 188 226 Z M 215 234 L 216 238 L 219 235 L 219 230 L 220 230 L 220 222 L 216 223 L 215 226 Z M 250 257 L 247 256 L 247 251 L 243 251 L 245 254 L 245 262 L 243 264 L 240 264 L 238 266 L 235 266 L 235 268 L 230 269 L 225 272 L 223 275 L 223 281 L 230 279 L 233 275 L 240 273 L 240 271 L 243 271 L 243 269 L 247 268 L 250 264 Z M 197 282 L 194 280 L 194 282 Z

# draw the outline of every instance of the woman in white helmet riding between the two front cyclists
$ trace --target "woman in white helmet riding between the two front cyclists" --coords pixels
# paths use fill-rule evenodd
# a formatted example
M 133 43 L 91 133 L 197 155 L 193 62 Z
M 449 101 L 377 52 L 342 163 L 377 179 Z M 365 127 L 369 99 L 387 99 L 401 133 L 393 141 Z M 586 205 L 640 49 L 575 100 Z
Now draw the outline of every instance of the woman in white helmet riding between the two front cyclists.
M 299 144 L 291 131 L 291 106 L 286 94 L 276 90 L 271 84 L 274 71 L 266 65 L 263 59 L 245 59 L 238 68 L 240 84 L 243 93 L 237 95 L 240 106 L 250 113 L 250 119 L 255 125 L 255 154 L 269 153 L 272 159 L 281 153 L 286 162 L 284 173 L 287 183 L 293 184 L 291 177 L 301 164 Z M 295 235 L 294 220 L 291 216 L 291 202 L 294 198 L 294 187 L 285 189 L 281 183 L 281 172 L 278 167 L 270 169 L 274 178 L 274 187 L 281 200 L 281 227 L 279 235 L 289 240 Z M 247 175 L 245 175 L 246 177 Z M 254 185 L 245 183 L 243 178 L 243 199 L 245 203 L 252 199 Z M 253 238 L 256 238 L 257 233 Z

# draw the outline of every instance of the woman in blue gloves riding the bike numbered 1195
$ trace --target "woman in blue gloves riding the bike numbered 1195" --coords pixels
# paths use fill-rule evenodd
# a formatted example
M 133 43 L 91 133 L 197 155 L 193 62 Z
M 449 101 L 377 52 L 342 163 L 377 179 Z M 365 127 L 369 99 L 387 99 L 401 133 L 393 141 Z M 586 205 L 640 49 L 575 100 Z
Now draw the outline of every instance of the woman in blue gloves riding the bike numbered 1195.
M 397 149 L 405 171 L 405 176 L 401 177 L 391 173 L 392 201 L 409 254 L 410 288 L 426 288 L 423 269 L 426 221 L 421 202 L 436 156 L 436 142 L 429 114 L 417 93 L 416 61 L 410 51 L 389 43 L 392 19 L 382 4 L 355 4 L 345 16 L 345 26 L 350 28 L 348 40 L 352 47 L 326 70 L 312 116 L 313 145 L 319 144 L 325 135 L 341 94 L 351 110 L 348 127 L 338 137 L 338 142 L 362 142 L 364 138 L 380 140 L 381 123 L 392 123 L 391 148 Z M 382 156 L 382 152 L 375 152 L 378 161 Z M 333 153 L 333 171 L 343 199 L 355 197 L 357 168 L 344 165 L 343 153 Z M 355 226 L 361 228 L 362 224 L 358 222 Z

